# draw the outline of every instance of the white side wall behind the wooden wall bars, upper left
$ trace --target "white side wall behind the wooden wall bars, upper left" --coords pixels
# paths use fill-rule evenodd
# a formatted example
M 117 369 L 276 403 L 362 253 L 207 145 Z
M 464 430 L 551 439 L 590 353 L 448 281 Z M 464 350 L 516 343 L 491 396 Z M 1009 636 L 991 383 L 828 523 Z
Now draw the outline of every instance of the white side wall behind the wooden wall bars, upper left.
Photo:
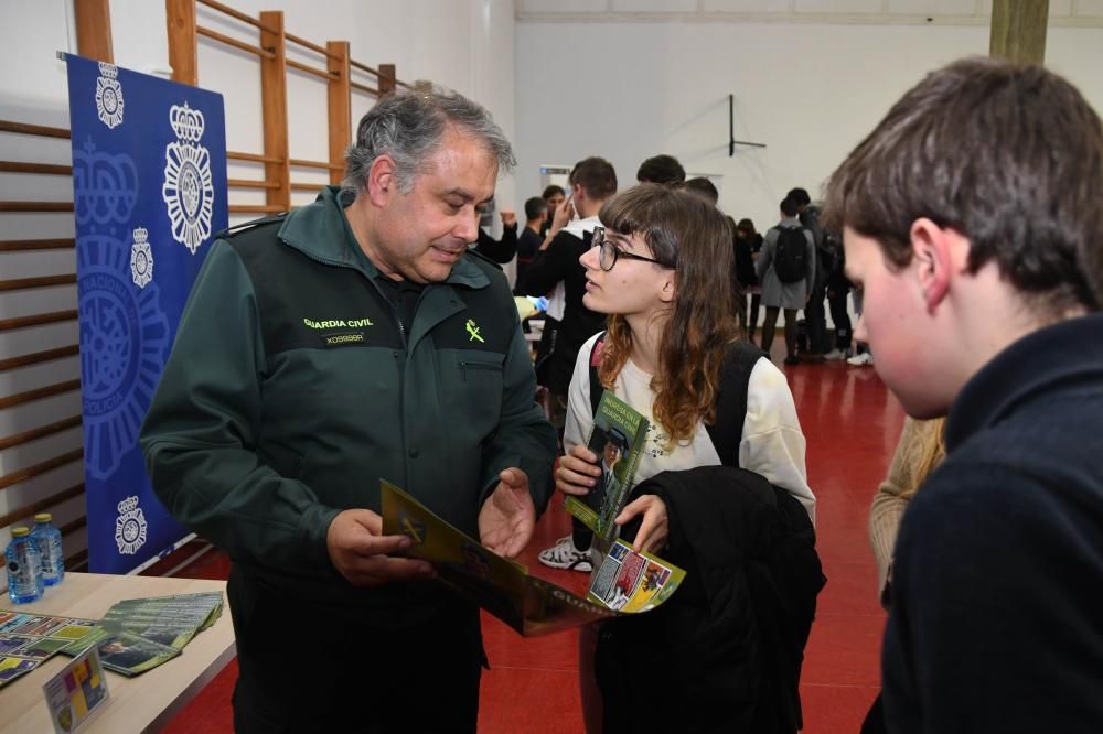
M 513 0 L 326 0 L 320 6 L 307 0 L 233 0 L 234 9 L 253 17 L 264 10 L 282 10 L 285 29 L 319 45 L 329 40 L 350 42 L 355 61 L 378 66 L 395 64 L 404 82 L 431 79 L 483 104 L 512 137 L 513 119 Z M 201 25 L 256 43 L 253 26 L 199 6 Z M 164 6 L 150 0 L 113 0 L 111 24 L 115 57 L 120 66 L 151 71 L 167 66 L 168 42 L 163 32 Z M 219 91 L 226 102 L 226 142 L 229 150 L 263 149 L 260 126 L 259 63 L 256 56 L 200 37 L 200 86 Z M 312 66 L 324 66 L 321 57 L 296 44 L 288 57 Z M 306 73 L 288 69 L 288 133 L 292 158 L 326 160 L 325 84 Z M 376 86 L 372 75 L 354 72 L 353 79 Z M 375 99 L 354 91 L 352 118 L 371 109 Z M 234 163 L 231 177 L 258 177 L 260 166 Z M 325 183 L 323 172 L 296 169 L 295 182 Z M 503 180 L 500 193 L 510 197 L 512 182 Z M 263 203 L 259 192 L 234 190 L 234 203 Z M 296 204 L 314 195 L 297 192 Z M 238 217 L 240 219 L 242 217 Z

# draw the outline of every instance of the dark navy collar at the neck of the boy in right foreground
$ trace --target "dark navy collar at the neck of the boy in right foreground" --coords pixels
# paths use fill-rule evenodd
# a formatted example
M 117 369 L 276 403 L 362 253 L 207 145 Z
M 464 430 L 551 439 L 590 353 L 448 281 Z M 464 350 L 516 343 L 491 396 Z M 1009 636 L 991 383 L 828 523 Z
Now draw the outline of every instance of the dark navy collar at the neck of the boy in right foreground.
M 1103 314 L 1069 319 L 1018 339 L 962 388 L 946 420 L 946 451 L 1028 402 L 1103 385 Z M 1043 428 L 1039 427 L 1039 430 Z

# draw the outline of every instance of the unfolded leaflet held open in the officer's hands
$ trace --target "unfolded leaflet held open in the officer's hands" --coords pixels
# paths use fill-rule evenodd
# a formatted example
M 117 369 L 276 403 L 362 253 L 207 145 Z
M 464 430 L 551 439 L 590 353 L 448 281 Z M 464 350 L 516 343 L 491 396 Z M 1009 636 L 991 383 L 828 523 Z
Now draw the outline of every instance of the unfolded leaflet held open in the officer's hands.
M 433 515 L 414 497 L 386 481 L 379 482 L 384 535 L 405 535 L 414 541 L 407 555 L 432 563 L 438 579 L 462 596 L 486 609 L 524 637 L 535 637 L 591 622 L 652 609 L 674 593 L 685 572 L 652 555 L 654 564 L 668 571 L 638 580 L 629 602 L 615 611 L 604 595 L 591 587 L 589 601 L 563 586 L 529 575 L 528 569 L 504 559 Z M 629 553 L 634 551 L 624 544 Z M 615 563 L 625 563 L 621 554 Z M 595 575 L 595 581 L 600 574 Z

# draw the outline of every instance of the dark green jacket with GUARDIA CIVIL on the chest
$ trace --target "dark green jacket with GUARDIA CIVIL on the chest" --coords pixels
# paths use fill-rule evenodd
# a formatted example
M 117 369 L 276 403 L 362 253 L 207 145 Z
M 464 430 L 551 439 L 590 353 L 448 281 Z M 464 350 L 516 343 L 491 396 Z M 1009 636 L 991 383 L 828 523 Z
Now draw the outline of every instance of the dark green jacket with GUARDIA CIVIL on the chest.
M 379 511 L 379 479 L 478 538 L 499 473 L 537 511 L 556 435 L 505 277 L 465 255 L 400 323 L 338 188 L 213 245 L 141 432 L 157 495 L 248 578 L 296 596 L 400 604 L 353 590 L 326 531 Z

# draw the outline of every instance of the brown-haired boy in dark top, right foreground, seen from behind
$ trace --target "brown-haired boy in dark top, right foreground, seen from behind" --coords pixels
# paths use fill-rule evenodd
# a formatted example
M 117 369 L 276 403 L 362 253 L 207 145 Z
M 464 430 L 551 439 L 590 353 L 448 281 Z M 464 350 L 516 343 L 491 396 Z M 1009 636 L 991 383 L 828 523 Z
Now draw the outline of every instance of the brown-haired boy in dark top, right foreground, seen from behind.
M 1103 125 L 1040 66 L 929 74 L 832 175 L 855 337 L 946 457 L 908 506 L 889 732 L 1103 731 Z

